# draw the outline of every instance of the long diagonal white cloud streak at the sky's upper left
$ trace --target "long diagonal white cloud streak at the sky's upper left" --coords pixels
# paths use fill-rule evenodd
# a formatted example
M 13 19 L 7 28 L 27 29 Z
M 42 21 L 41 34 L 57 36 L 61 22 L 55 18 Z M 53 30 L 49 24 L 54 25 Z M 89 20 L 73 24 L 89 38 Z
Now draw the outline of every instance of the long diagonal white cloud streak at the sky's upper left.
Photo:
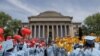
M 22 3 L 20 0 L 7 0 L 9 3 L 31 13 L 32 15 L 36 15 L 38 12 L 36 9 L 30 8 L 27 4 Z

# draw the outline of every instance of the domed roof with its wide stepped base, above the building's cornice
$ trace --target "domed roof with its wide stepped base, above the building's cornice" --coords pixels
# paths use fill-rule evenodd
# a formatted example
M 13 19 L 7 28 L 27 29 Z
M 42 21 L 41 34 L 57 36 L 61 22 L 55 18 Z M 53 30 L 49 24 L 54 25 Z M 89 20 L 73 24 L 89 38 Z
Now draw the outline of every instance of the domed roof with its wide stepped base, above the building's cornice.
M 56 12 L 56 11 L 45 11 L 45 12 L 40 13 L 37 16 L 30 16 L 29 19 L 30 18 L 70 18 L 72 19 L 72 17 L 64 16 L 61 13 Z

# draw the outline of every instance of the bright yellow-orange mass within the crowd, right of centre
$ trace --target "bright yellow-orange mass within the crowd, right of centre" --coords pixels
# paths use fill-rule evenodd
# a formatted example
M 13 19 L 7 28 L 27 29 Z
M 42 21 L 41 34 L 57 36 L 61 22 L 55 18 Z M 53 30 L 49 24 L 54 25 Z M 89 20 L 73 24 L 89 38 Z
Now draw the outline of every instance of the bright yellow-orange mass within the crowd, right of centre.
M 94 35 L 92 34 L 92 36 L 94 36 Z M 82 40 L 80 40 L 78 36 L 76 36 L 76 37 L 67 36 L 67 37 L 63 37 L 63 38 L 58 37 L 55 39 L 55 42 L 58 47 L 63 47 L 66 51 L 72 52 L 73 49 L 75 48 L 74 45 L 76 45 L 76 44 L 84 45 L 85 44 L 85 42 L 86 42 L 85 37 L 86 36 L 82 36 Z M 96 37 L 94 39 L 95 43 L 99 43 L 100 37 L 97 37 L 97 36 L 95 36 L 95 37 Z

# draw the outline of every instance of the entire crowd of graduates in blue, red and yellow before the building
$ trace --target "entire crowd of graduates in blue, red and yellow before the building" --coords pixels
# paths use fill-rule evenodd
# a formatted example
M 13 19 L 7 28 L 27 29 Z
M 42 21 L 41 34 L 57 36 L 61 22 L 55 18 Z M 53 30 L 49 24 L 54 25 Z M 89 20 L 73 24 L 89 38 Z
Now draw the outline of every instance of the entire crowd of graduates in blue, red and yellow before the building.
M 0 56 L 100 56 L 100 38 L 97 36 L 56 37 L 50 43 L 45 39 L 30 38 L 31 30 L 24 27 L 21 34 L 4 37 L 0 28 Z M 3 42 L 12 41 L 13 47 L 5 50 Z M 8 45 L 10 46 L 10 45 Z

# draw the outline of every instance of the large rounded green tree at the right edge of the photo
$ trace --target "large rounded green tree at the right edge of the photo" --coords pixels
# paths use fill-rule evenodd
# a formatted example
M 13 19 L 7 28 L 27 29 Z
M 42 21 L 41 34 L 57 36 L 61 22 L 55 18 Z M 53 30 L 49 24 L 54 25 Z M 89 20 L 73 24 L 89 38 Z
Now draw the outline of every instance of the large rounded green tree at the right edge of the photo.
M 84 23 L 89 33 L 93 32 L 96 33 L 96 35 L 100 35 L 100 13 L 88 16 Z

